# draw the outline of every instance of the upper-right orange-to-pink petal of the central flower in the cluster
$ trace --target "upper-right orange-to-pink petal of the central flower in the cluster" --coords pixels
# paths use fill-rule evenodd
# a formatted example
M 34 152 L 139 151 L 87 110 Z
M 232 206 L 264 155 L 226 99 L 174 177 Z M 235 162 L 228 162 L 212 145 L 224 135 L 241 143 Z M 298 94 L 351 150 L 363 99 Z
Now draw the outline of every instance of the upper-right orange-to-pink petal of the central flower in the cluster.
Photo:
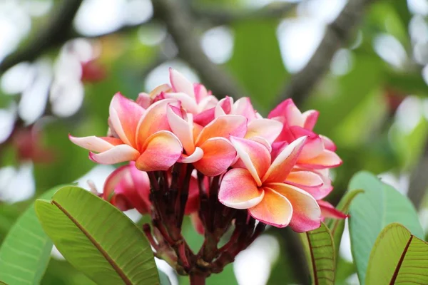
M 223 115 L 203 128 L 195 145 L 200 145 L 209 138 L 229 138 L 230 135 L 242 138 L 247 132 L 247 119 L 241 115 Z

